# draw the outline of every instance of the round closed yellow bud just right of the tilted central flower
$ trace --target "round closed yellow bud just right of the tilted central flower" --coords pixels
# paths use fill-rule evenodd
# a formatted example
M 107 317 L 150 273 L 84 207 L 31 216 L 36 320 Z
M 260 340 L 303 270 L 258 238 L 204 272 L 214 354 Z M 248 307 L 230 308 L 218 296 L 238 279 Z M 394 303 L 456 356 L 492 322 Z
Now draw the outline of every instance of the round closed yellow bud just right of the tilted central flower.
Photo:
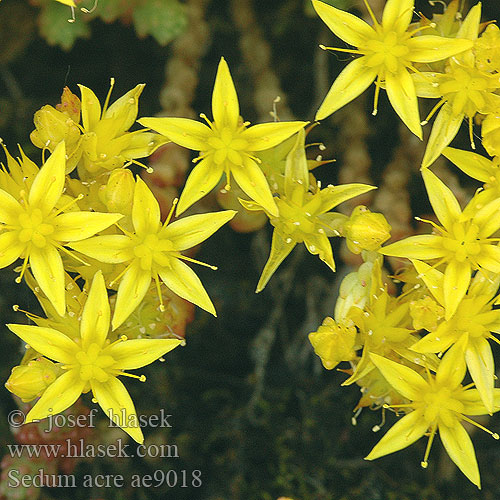
M 365 206 L 359 205 L 344 224 L 343 234 L 347 247 L 353 253 L 362 250 L 378 250 L 380 245 L 391 236 L 391 226 L 382 214 L 370 212 Z

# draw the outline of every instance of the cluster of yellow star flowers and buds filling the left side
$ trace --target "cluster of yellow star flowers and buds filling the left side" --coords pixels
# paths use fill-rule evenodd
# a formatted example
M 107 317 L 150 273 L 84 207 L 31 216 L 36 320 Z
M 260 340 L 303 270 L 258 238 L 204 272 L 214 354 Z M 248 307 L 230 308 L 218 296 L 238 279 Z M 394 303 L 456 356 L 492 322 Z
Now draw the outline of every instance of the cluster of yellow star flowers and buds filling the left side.
M 66 88 L 59 105 L 35 114 L 32 142 L 44 156 L 51 152 L 41 168 L 22 150 L 17 160 L 6 150 L 0 267 L 21 260 L 16 281 L 26 280 L 47 315 L 27 312 L 35 325 L 8 325 L 28 350 L 6 387 L 26 402 L 39 397 L 26 423 L 62 412 L 91 391 L 106 415 L 142 442 L 134 404 L 118 377 L 144 381 L 126 370 L 184 343 L 190 316 L 185 304 L 215 315 L 185 263 L 200 262 L 185 252 L 235 212 L 171 222 L 175 200 L 161 220 L 147 184 L 125 168 L 169 140 L 144 129 L 129 131 L 143 87 L 110 106 L 108 94 L 102 108 L 90 89 L 80 87 L 80 101 Z M 78 177 L 68 175 L 74 169 Z

